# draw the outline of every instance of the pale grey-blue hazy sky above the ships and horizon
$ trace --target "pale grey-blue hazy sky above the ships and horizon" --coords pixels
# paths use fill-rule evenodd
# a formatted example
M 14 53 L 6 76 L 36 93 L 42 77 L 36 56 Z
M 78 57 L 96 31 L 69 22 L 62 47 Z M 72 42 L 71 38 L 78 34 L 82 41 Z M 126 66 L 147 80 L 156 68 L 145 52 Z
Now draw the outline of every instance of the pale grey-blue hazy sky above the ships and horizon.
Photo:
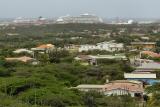
M 160 0 L 0 0 L 0 18 L 58 17 L 81 13 L 106 18 L 160 18 Z

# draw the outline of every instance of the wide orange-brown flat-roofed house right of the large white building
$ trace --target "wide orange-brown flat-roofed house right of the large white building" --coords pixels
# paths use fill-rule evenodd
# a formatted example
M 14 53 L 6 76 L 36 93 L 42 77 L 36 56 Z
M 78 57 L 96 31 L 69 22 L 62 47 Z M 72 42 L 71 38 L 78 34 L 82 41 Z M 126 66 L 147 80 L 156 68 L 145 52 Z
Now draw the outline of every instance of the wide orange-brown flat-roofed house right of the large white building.
M 156 47 L 155 42 L 131 42 L 132 49 L 138 50 L 154 50 Z

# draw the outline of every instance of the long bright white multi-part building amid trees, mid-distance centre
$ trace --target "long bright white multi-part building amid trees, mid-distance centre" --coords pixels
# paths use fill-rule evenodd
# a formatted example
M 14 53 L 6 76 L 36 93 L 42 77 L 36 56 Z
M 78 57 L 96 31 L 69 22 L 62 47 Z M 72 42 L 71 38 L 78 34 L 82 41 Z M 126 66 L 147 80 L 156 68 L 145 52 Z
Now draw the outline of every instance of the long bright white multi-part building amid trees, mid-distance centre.
M 122 43 L 114 43 L 114 41 L 97 43 L 96 45 L 81 45 L 79 52 L 82 51 L 92 51 L 92 50 L 105 50 L 109 52 L 124 50 Z

